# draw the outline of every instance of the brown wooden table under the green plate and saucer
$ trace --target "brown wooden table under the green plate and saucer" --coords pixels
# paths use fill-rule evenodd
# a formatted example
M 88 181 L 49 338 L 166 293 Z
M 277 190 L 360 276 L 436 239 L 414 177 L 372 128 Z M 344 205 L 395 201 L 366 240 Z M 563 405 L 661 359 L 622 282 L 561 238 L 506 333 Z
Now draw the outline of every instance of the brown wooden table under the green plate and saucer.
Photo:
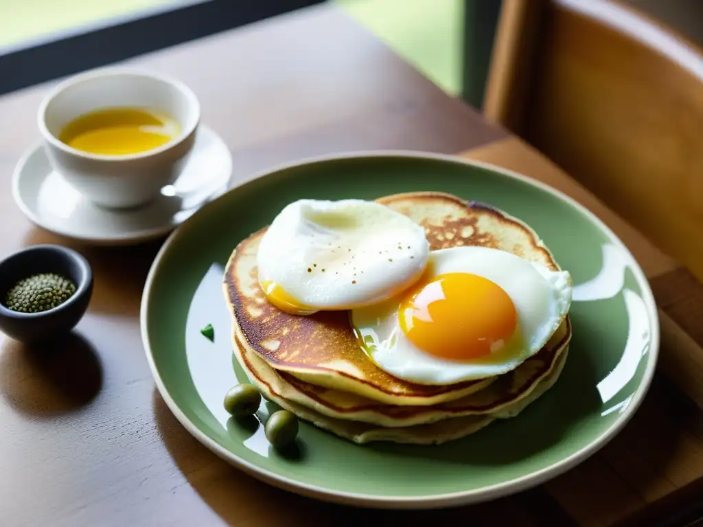
M 661 370 L 636 417 L 606 448 L 545 486 L 432 512 L 369 512 L 307 500 L 245 476 L 176 422 L 150 376 L 138 307 L 160 242 L 77 247 L 95 292 L 77 341 L 39 355 L 0 341 L 2 526 L 646 525 L 701 495 L 703 287 L 688 271 L 527 145 L 449 98 L 336 8 L 321 6 L 170 48 L 134 63 L 173 74 L 234 157 L 233 183 L 297 157 L 378 148 L 462 152 L 576 197 L 645 268 L 663 313 Z M 38 139 L 47 86 L 0 98 L 0 254 L 37 242 L 9 183 Z M 659 377 L 660 375 L 658 375 Z M 676 387 L 678 386 L 678 387 Z

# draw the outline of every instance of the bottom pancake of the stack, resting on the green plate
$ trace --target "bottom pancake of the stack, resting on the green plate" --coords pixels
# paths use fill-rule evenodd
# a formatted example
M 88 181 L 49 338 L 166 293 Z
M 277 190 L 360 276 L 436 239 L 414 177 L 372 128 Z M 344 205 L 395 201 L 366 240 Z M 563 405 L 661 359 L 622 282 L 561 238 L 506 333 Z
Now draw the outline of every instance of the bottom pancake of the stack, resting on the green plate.
M 348 419 L 335 419 L 311 408 L 290 401 L 282 393 L 290 392 L 293 388 L 281 375 L 262 360 L 257 353 L 247 353 L 242 346 L 235 346 L 235 354 L 247 373 L 250 382 L 259 388 L 262 395 L 276 403 L 300 419 L 314 426 L 331 432 L 337 436 L 353 441 L 354 443 L 371 443 L 373 441 L 391 441 L 394 443 L 411 443 L 416 445 L 439 445 L 447 441 L 474 434 L 480 429 L 494 422 L 496 419 L 516 417 L 524 408 L 550 389 L 561 375 L 562 368 L 567 360 L 568 346 L 560 353 L 560 358 L 555 363 L 551 372 L 534 386 L 526 396 L 503 405 L 491 414 L 466 415 L 463 417 L 450 417 L 429 424 L 418 424 L 408 427 L 380 427 L 377 424 L 368 424 Z

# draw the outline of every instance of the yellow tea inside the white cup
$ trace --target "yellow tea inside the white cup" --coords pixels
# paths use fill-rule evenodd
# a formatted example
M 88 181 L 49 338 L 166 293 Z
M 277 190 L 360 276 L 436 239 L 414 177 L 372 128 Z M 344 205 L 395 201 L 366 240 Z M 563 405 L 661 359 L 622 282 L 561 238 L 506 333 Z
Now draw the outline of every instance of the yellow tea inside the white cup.
M 143 108 L 103 108 L 67 124 L 58 138 L 84 152 L 127 155 L 146 152 L 179 134 L 175 119 Z

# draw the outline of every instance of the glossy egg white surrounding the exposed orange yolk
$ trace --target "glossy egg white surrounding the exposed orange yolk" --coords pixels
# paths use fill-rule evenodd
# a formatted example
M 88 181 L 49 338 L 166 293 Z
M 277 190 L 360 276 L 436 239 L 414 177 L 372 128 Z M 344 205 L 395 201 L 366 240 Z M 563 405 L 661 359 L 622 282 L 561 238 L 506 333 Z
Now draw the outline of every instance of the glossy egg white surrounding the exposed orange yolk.
M 390 375 L 439 385 L 502 375 L 537 353 L 571 306 L 572 280 L 567 271 L 552 271 L 499 249 L 453 247 L 430 252 L 422 280 L 446 273 L 472 273 L 502 287 L 517 313 L 513 338 L 489 356 L 446 360 L 418 348 L 401 330 L 398 313 L 402 295 L 354 309 L 350 317 L 354 332 L 375 364 Z

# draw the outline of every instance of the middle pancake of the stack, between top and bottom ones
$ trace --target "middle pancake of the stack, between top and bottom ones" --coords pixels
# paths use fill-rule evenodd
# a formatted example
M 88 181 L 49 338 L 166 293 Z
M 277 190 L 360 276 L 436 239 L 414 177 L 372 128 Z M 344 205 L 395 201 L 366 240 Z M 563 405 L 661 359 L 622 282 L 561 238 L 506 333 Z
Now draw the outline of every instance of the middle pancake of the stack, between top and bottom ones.
M 376 424 L 380 427 L 410 427 L 465 415 L 488 415 L 508 408 L 512 403 L 529 396 L 532 390 L 548 377 L 562 360 L 569 340 L 571 325 L 565 320 L 546 346 L 536 355 L 508 374 L 501 375 L 496 382 L 468 396 L 435 406 L 384 405 L 355 393 L 326 389 L 301 381 L 284 371 L 261 365 L 262 359 L 248 351 L 236 339 L 237 358 L 245 370 L 256 370 L 254 383 L 267 384 L 291 403 L 297 403 L 321 415 L 335 419 Z

